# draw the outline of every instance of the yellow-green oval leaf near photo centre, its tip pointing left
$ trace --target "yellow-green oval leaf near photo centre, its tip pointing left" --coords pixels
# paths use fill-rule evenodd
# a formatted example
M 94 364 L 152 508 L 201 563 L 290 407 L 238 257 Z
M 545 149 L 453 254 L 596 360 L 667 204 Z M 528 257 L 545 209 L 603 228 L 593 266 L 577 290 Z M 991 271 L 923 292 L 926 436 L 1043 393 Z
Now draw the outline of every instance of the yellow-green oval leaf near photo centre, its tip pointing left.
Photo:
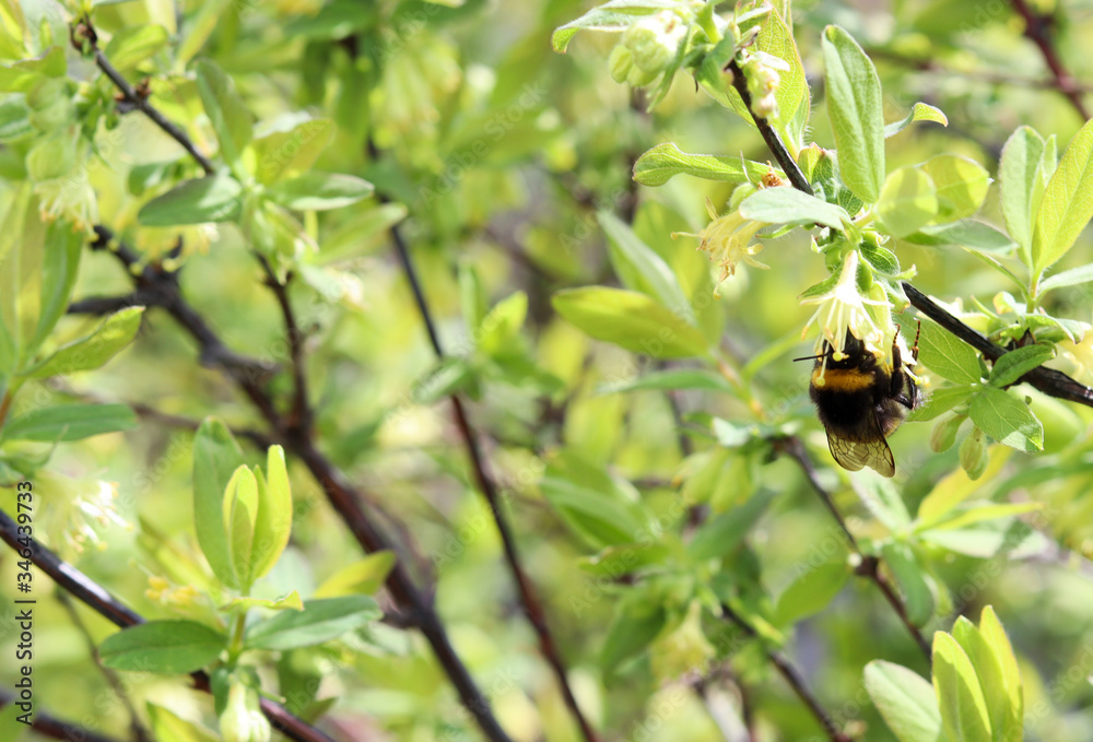
M 554 294 L 554 309 L 597 340 L 656 358 L 704 356 L 702 330 L 645 294 L 604 286 L 567 288 Z

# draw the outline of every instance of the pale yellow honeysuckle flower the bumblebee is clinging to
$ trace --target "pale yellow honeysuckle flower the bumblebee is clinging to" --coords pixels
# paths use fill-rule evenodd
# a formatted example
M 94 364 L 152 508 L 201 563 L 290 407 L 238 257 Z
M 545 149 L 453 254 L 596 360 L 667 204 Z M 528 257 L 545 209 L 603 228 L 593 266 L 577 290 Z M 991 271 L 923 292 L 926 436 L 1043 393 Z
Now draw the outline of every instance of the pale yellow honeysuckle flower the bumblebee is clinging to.
M 858 288 L 857 276 L 858 251 L 850 250 L 843 261 L 843 270 L 835 286 L 820 296 L 801 299 L 802 305 L 819 305 L 815 313 L 806 322 L 801 338 L 803 339 L 808 334 L 813 323 L 819 322 L 821 334 L 816 341 L 816 352 L 821 352 L 823 342 L 827 341 L 834 350 L 833 357 L 836 361 L 844 355 L 847 332 L 865 343 L 868 350 L 884 356 L 891 353 L 892 342 L 895 338 L 895 327 L 892 325 L 891 314 L 888 311 L 888 302 L 862 296 Z M 874 313 L 871 313 L 867 306 L 882 307 L 878 314 L 882 314 L 888 319 L 884 326 L 878 323 L 873 316 Z M 822 379 L 823 374 L 818 382 Z

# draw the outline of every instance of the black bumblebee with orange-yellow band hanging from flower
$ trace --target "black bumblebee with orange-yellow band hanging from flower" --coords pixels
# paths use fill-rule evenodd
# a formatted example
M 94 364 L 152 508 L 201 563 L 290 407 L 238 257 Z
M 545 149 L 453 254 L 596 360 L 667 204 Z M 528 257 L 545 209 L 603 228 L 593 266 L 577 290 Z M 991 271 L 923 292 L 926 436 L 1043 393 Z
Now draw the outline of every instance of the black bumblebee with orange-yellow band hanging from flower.
M 916 338 L 915 360 L 917 350 Z M 809 358 L 815 360 L 809 397 L 827 431 L 827 447 L 835 461 L 849 471 L 869 467 L 884 476 L 895 474 L 895 460 L 885 438 L 918 403 L 913 364 L 904 364 L 897 342 L 892 342 L 891 366 L 849 331 L 837 361 L 826 340 L 819 355 L 798 361 Z

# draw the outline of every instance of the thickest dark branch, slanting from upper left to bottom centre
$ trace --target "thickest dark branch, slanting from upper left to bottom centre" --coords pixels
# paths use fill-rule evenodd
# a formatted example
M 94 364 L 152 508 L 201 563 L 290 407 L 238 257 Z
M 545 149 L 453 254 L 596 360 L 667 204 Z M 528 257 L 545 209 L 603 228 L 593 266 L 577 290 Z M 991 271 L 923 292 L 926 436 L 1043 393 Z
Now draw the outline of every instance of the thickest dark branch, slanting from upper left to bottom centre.
M 96 226 L 95 233 L 98 238 L 92 248 L 105 249 L 115 243 L 114 234 L 108 228 Z M 246 393 L 269 424 L 273 436 L 303 461 L 319 482 L 331 506 L 364 550 L 369 553 L 397 551 L 361 506 L 364 499 L 362 494 L 357 493 L 344 474 L 316 448 L 310 437 L 299 435 L 298 427 L 290 425 L 277 410 L 273 399 L 261 384 L 268 376 L 269 368 L 227 349 L 201 315 L 181 296 L 177 273 L 166 273 L 151 267 L 141 269 L 139 256 L 124 243 L 116 243 L 110 251 L 132 275 L 138 287 L 160 293 L 165 297 L 166 301 L 157 303 L 156 306 L 163 307 L 197 341 L 202 363 L 221 368 Z M 401 560 L 396 561 L 387 576 L 386 585 L 402 614 L 413 621 L 430 643 L 437 661 L 459 693 L 460 700 L 474 717 L 486 739 L 491 742 L 510 742 L 505 730 L 494 718 L 490 702 L 453 648 L 440 617 L 414 585 Z

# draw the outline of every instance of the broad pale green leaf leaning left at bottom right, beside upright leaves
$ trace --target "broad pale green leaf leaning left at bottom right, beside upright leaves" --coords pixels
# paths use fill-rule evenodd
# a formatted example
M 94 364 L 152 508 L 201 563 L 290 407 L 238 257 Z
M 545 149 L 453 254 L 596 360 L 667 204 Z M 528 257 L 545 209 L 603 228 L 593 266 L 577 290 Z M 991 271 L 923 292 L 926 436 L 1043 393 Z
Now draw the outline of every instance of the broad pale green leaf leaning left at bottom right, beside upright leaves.
M 866 666 L 866 691 L 900 742 L 940 742 L 941 710 L 933 686 L 902 664 Z

